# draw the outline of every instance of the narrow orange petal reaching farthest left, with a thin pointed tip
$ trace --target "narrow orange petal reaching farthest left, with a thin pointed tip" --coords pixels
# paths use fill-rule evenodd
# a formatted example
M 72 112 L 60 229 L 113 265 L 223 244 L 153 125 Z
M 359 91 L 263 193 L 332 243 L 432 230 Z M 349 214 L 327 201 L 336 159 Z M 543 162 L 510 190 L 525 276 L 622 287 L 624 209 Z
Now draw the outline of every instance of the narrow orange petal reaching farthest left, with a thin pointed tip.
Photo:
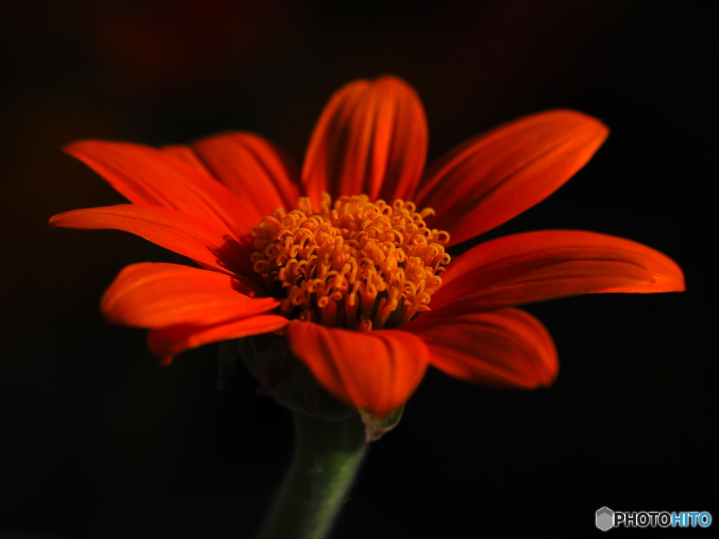
M 203 267 L 252 275 L 249 251 L 245 247 L 200 218 L 169 208 L 135 204 L 86 208 L 53 216 L 50 225 L 124 230 L 193 259 Z

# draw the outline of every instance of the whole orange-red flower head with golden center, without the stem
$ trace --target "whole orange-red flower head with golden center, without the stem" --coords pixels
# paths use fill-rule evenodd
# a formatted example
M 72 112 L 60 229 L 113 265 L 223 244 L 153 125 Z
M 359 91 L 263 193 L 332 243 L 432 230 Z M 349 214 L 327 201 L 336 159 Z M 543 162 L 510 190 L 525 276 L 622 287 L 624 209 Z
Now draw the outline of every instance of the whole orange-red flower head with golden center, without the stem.
M 585 114 L 548 111 L 470 139 L 423 172 L 416 93 L 393 77 L 359 80 L 329 101 L 301 175 L 242 132 L 164 149 L 71 144 L 65 151 L 131 204 L 50 223 L 129 231 L 201 266 L 132 264 L 102 298 L 109 322 L 150 328 L 162 363 L 277 332 L 326 390 L 381 417 L 428 365 L 477 384 L 550 384 L 551 337 L 514 305 L 684 290 L 672 259 L 592 232 L 515 234 L 452 262 L 444 252 L 546 198 L 607 134 Z

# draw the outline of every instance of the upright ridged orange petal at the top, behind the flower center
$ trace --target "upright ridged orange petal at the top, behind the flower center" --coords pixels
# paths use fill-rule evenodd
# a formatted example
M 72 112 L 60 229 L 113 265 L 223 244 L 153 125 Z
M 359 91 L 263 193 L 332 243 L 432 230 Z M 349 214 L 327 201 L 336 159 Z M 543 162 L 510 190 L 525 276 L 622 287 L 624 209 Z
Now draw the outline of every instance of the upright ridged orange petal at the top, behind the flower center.
M 314 203 L 323 192 L 372 200 L 413 195 L 427 153 L 427 121 L 403 80 L 357 80 L 340 88 L 314 129 L 302 185 Z

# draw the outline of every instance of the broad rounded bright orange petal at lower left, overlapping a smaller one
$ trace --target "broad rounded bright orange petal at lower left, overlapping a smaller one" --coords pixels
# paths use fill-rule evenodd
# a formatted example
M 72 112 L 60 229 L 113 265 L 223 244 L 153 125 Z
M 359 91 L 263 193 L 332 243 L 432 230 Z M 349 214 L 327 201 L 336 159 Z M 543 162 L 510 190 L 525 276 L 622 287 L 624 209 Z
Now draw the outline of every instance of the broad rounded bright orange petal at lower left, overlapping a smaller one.
M 209 326 L 265 313 L 280 302 L 251 298 L 246 282 L 199 268 L 145 262 L 116 277 L 100 302 L 109 323 L 140 328 Z

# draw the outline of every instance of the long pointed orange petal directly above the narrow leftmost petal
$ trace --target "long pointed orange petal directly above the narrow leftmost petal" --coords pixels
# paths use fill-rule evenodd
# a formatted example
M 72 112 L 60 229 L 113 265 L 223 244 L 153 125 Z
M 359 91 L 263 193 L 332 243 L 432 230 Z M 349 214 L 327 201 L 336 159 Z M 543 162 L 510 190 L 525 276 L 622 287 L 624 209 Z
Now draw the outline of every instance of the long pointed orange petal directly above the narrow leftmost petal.
M 84 140 L 65 147 L 139 206 L 162 206 L 201 218 L 242 239 L 257 224 L 247 208 L 224 185 L 170 152 L 129 144 Z

